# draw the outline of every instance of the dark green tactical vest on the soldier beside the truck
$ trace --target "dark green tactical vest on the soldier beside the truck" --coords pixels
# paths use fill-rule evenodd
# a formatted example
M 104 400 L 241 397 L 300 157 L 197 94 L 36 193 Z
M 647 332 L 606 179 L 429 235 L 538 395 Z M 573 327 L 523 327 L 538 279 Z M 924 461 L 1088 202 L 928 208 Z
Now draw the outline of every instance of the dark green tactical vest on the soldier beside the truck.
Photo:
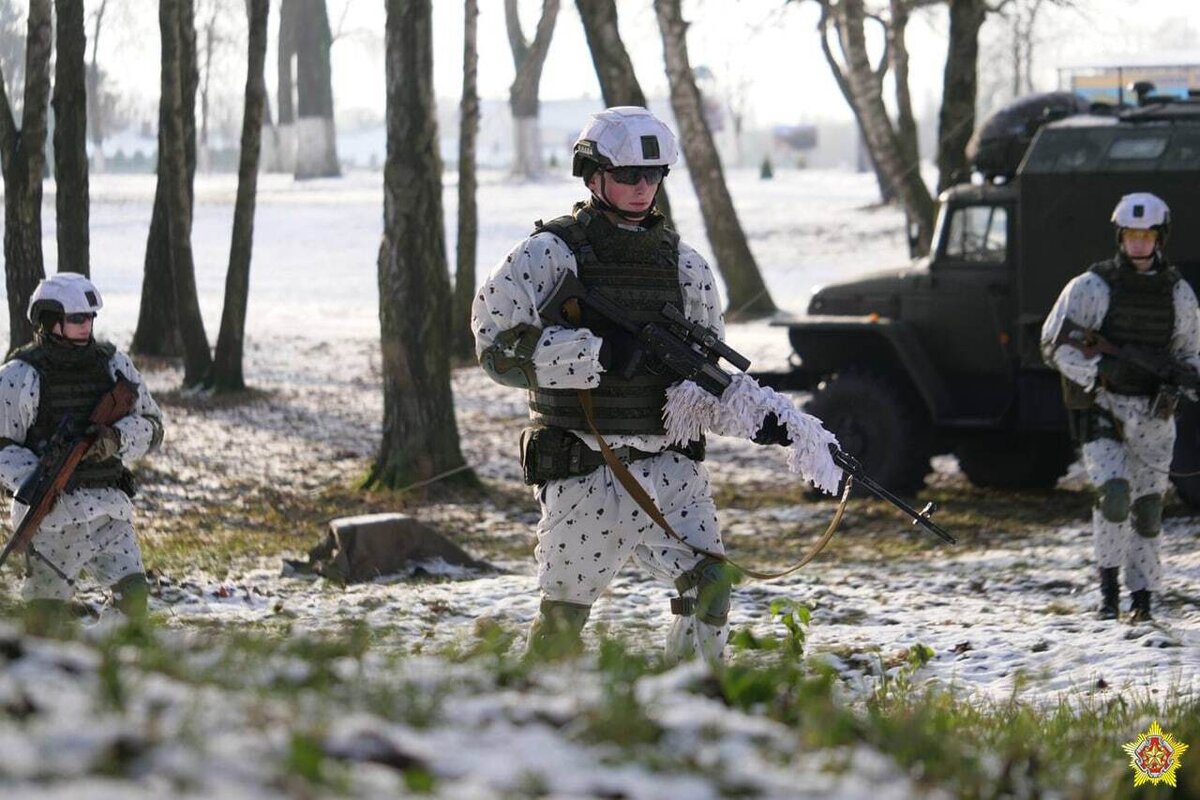
M 1178 270 L 1159 265 L 1147 275 L 1118 257 L 1093 265 L 1092 272 L 1109 285 L 1109 311 L 1100 336 L 1118 347 L 1168 350 L 1175 335 Z M 1105 387 L 1121 395 L 1154 395 L 1160 383 L 1145 369 L 1122 362 L 1105 379 Z

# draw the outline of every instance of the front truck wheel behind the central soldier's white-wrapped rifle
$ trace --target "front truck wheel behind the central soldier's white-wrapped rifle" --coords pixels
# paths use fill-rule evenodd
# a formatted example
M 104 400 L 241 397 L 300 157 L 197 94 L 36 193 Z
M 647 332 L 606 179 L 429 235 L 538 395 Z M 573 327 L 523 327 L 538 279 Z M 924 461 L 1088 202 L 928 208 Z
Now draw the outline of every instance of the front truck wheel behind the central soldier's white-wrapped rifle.
M 925 485 L 929 420 L 888 378 L 846 371 L 817 385 L 804 410 L 820 419 L 866 474 L 893 492 Z

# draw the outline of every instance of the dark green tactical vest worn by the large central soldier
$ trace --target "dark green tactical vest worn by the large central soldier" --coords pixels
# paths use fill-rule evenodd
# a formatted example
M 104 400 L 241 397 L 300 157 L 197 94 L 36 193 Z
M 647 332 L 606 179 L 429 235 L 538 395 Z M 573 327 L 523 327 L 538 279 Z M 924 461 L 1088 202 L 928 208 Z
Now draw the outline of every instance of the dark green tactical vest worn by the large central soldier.
M 683 308 L 679 288 L 679 235 L 662 217 L 647 219 L 647 227 L 626 230 L 602 212 L 577 203 L 568 216 L 538 224 L 534 233 L 550 231 L 575 254 L 580 279 L 620 303 L 636 323 L 662 321 L 662 303 Z M 619 329 L 583 308 L 582 325 L 604 338 Z M 594 419 L 600 433 L 661 434 L 662 408 L 671 375 L 646 371 L 626 380 L 613 373 L 600 375 L 592 390 Z M 574 389 L 538 386 L 529 392 L 529 416 L 539 425 L 586 431 L 588 428 L 578 395 Z

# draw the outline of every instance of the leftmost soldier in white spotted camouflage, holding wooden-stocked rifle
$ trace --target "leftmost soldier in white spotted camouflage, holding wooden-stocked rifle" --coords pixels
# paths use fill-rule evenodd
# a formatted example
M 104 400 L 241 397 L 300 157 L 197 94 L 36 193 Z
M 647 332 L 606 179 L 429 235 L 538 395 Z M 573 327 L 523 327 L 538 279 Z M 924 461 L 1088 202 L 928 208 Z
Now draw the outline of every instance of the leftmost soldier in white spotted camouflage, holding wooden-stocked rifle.
M 10 492 L 32 476 L 56 433 L 95 437 L 67 491 L 42 521 L 25 549 L 24 596 L 34 625 L 67 615 L 83 569 L 110 585 L 128 616 L 146 612 L 149 584 L 133 535 L 133 475 L 124 462 L 162 443 L 162 414 L 128 356 L 92 336 L 103 300 L 84 276 L 43 279 L 29 303 L 35 341 L 0 368 L 0 482 Z M 89 416 L 119 379 L 137 384 L 133 413 L 112 426 Z M 29 506 L 13 501 L 13 528 Z

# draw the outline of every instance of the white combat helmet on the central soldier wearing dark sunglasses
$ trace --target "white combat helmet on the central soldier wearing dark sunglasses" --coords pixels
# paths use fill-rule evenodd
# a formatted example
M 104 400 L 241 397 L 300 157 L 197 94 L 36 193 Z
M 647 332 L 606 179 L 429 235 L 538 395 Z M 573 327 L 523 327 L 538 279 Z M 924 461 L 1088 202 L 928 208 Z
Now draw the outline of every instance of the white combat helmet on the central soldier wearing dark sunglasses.
M 584 176 L 587 162 L 601 167 L 667 167 L 679 161 L 674 133 L 640 106 L 617 106 L 593 114 L 575 142 L 571 174 Z

